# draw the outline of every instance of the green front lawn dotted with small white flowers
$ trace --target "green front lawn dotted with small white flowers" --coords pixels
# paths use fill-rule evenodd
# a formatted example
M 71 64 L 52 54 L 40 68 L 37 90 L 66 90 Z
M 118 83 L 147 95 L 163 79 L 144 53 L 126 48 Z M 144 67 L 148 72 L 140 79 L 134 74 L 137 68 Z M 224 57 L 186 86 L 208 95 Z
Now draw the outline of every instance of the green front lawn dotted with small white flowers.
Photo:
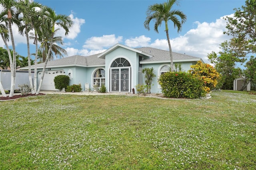
M 256 169 L 256 95 L 0 102 L 0 169 Z

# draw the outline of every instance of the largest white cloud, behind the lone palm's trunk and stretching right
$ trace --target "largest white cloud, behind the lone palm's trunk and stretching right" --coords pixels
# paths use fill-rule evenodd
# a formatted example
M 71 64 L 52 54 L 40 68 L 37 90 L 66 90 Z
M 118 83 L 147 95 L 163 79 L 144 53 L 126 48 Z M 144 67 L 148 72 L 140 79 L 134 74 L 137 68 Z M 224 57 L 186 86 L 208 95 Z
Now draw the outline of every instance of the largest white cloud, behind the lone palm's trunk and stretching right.
M 232 17 L 233 14 L 228 17 Z M 226 17 L 226 16 L 224 16 Z M 223 34 L 226 31 L 226 20 L 220 17 L 215 22 L 195 22 L 197 27 L 189 30 L 184 36 L 170 40 L 172 51 L 186 53 L 195 57 L 201 57 L 204 62 L 209 62 L 207 54 L 220 51 L 220 44 L 230 37 Z M 150 47 L 169 50 L 167 40 L 155 40 Z

